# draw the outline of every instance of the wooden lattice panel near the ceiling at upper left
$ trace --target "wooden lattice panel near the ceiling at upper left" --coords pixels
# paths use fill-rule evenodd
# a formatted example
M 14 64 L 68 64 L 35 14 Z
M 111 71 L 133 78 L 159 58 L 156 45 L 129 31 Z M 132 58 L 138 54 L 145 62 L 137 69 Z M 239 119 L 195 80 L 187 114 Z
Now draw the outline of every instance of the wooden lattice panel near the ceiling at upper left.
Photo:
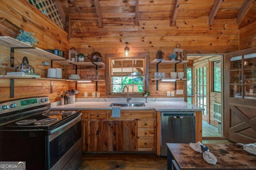
M 56 2 L 54 0 L 27 0 L 30 4 L 35 6 L 44 15 L 46 15 L 50 20 L 52 20 L 56 25 L 63 29 L 63 21 L 58 12 Z

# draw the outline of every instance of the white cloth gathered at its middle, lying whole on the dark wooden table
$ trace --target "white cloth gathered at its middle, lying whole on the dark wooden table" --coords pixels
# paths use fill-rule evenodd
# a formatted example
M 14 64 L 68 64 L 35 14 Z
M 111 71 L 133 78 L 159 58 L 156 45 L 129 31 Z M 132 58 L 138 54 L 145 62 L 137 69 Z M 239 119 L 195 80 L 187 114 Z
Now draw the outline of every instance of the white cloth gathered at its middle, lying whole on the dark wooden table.
M 198 142 L 198 143 L 190 143 L 189 146 L 194 149 L 196 152 L 200 152 L 202 153 L 202 149 L 201 146 L 204 146 L 202 143 Z M 216 165 L 217 163 L 217 158 L 208 150 L 205 150 L 203 152 L 203 158 L 204 160 L 206 160 L 206 162 L 208 162 L 209 164 L 214 164 Z

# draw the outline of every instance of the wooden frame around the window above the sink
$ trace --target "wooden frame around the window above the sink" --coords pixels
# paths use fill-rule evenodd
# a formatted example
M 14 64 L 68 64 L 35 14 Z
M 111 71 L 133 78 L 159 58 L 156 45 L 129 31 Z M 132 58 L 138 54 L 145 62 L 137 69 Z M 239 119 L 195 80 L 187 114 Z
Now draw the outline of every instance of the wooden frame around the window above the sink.
M 108 96 L 120 96 L 122 95 L 122 93 L 116 93 L 116 94 L 112 94 L 111 93 L 111 82 L 112 82 L 112 76 L 111 76 L 111 59 L 129 59 L 129 58 L 140 58 L 140 59 L 144 59 L 144 90 L 149 91 L 149 53 L 130 53 L 129 56 L 126 57 L 126 55 L 124 53 L 120 53 L 120 54 L 106 54 L 105 55 L 105 59 L 106 59 L 106 68 L 105 68 L 105 72 L 106 72 L 106 95 Z M 125 93 L 127 94 L 127 93 Z M 129 92 L 129 94 L 131 94 L 131 96 L 141 96 L 142 92 L 138 93 L 134 93 L 134 92 Z

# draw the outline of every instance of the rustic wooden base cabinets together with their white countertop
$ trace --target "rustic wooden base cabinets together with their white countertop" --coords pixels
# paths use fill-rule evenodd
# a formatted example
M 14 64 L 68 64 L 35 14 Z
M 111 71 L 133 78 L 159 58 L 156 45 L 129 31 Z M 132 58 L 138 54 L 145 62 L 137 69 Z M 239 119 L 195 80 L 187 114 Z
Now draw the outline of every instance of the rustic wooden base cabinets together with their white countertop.
M 112 117 L 113 102 L 52 104 L 52 110 L 82 111 L 84 152 L 151 151 L 161 155 L 161 112 L 194 112 L 196 141 L 202 141 L 202 108 L 187 102 L 148 102 L 144 107 L 121 107 L 120 118 Z M 170 129 L 171 130 L 171 129 Z

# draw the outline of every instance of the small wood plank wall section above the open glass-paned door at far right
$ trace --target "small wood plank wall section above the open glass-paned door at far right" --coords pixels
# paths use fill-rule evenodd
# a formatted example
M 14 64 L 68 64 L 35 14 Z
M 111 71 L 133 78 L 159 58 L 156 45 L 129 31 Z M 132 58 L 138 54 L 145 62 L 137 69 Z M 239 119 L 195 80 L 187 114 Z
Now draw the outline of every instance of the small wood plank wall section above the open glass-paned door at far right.
M 256 21 L 239 29 L 240 50 L 256 47 Z

